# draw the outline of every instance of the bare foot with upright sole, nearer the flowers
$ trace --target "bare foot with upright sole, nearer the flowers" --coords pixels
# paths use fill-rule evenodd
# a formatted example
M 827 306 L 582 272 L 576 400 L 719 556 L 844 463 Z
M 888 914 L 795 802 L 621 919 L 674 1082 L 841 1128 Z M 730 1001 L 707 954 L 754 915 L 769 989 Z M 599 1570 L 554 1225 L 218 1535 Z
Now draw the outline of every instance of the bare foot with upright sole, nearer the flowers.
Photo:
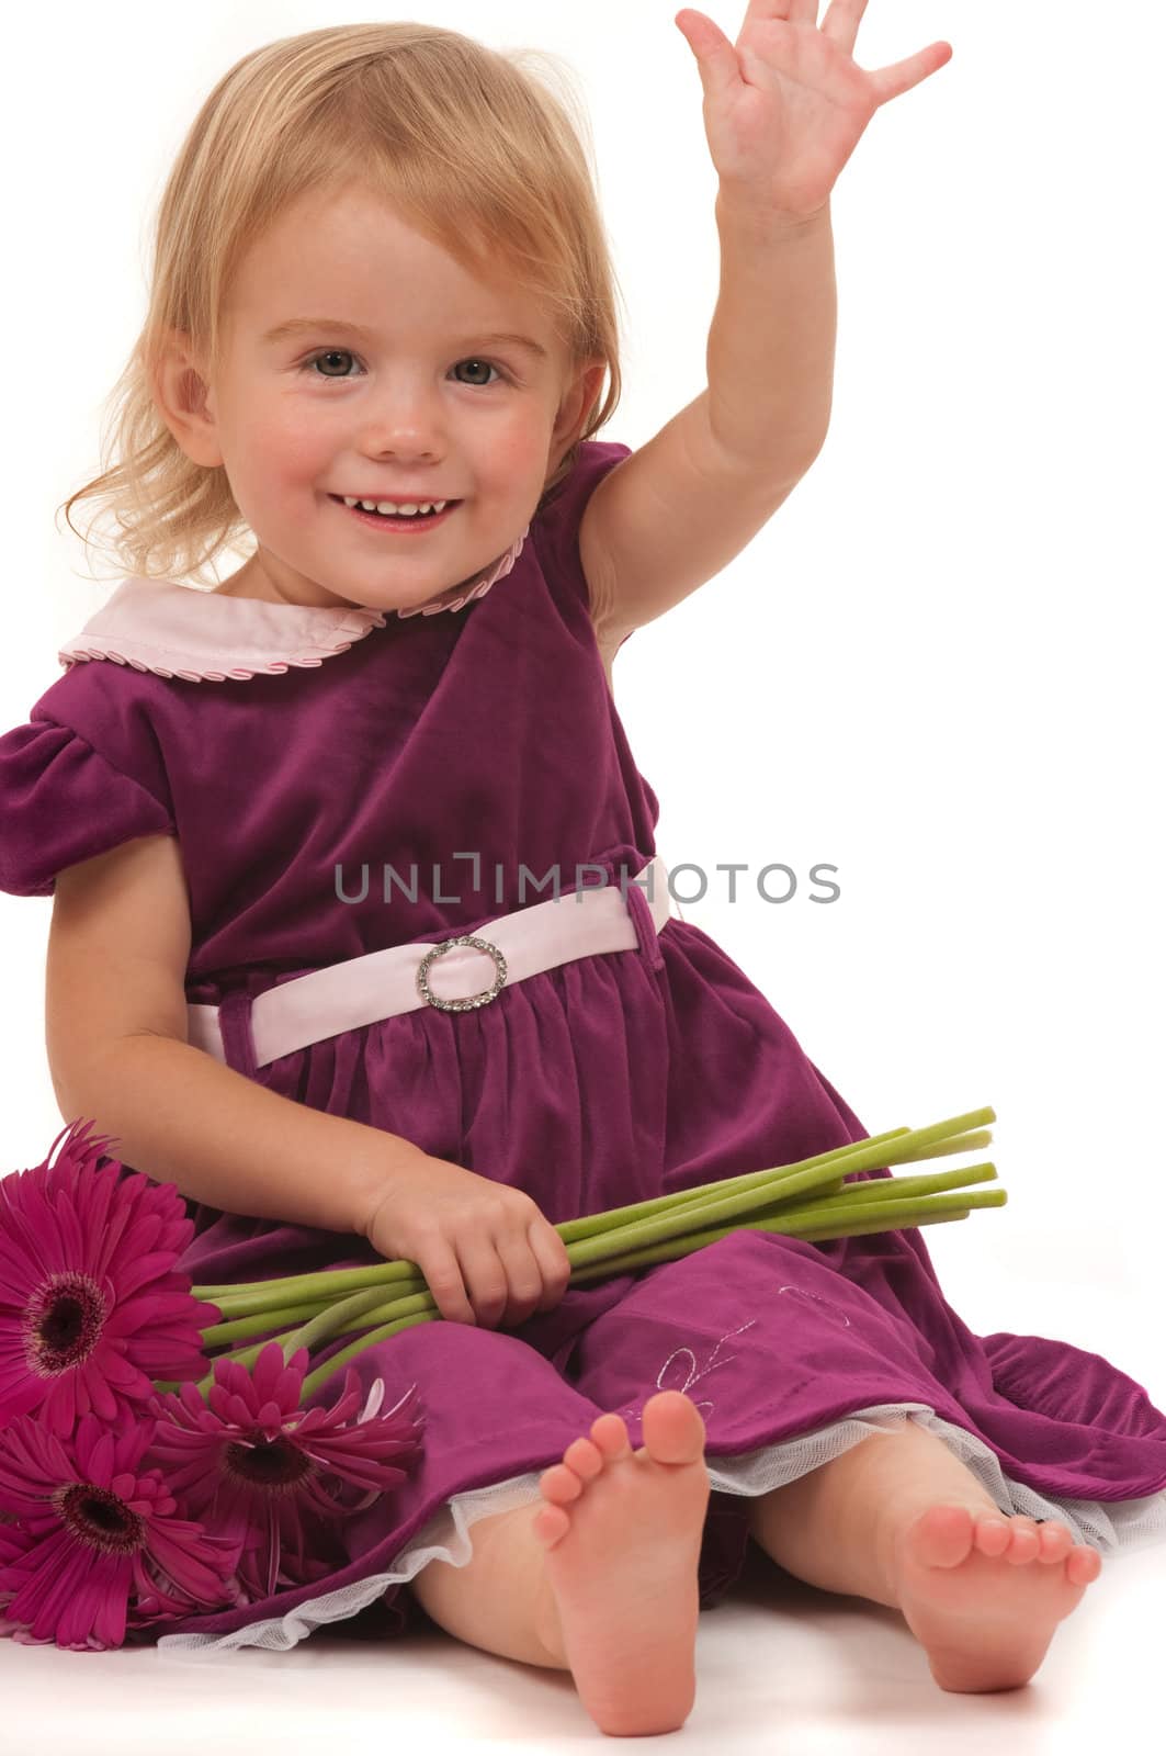
M 567 1445 L 539 1480 L 532 1529 L 562 1651 L 601 1731 L 676 1731 L 695 1700 L 697 1563 L 709 1498 L 704 1421 L 680 1391 L 644 1403 L 632 1450 L 616 1414 Z

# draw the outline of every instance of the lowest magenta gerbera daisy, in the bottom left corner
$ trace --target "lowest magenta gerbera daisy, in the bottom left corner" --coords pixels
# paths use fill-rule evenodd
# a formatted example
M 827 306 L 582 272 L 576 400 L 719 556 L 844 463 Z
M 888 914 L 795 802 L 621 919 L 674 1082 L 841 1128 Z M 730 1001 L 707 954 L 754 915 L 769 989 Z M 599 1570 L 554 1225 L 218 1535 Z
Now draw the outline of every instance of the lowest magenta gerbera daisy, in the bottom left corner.
M 246 1601 L 239 1544 L 174 1517 L 158 1470 L 139 1468 L 155 1421 L 111 1433 L 83 1415 L 60 1440 L 21 1415 L 0 1431 L 0 1633 L 76 1652 L 121 1645 L 126 1624 Z

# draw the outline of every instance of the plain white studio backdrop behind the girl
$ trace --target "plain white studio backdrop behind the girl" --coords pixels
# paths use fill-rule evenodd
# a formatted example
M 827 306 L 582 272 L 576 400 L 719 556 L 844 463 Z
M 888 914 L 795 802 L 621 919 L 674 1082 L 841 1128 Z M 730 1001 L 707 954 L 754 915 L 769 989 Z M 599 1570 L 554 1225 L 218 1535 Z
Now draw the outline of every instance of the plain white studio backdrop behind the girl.
M 704 386 L 716 174 L 671 0 L 413 0 L 399 16 L 574 72 L 625 295 L 639 446 Z M 153 205 L 244 53 L 334 4 L 114 0 L 21 16 L 0 109 L 11 560 L 0 729 L 116 581 L 54 525 L 95 474 L 144 314 Z M 371 11 L 363 16 L 378 16 Z M 732 37 L 743 7 L 711 14 Z M 874 0 L 855 58 L 952 61 L 873 119 L 832 198 L 838 369 L 822 457 L 718 578 L 615 667 L 681 906 L 871 1133 L 980 1105 L 1003 1210 L 925 1233 L 973 1331 L 1103 1352 L 1166 1407 L 1157 1250 L 1162 137 L 1157 7 Z M 1155 318 L 1154 313 L 1159 313 Z M 727 901 L 718 862 L 748 862 Z M 757 871 L 799 892 L 762 901 Z M 810 901 L 810 869 L 841 897 Z M 780 878 L 776 880 L 780 887 Z M 0 896 L 0 1169 L 61 1126 L 49 899 Z M 954 1700 L 954 1698 L 952 1698 Z

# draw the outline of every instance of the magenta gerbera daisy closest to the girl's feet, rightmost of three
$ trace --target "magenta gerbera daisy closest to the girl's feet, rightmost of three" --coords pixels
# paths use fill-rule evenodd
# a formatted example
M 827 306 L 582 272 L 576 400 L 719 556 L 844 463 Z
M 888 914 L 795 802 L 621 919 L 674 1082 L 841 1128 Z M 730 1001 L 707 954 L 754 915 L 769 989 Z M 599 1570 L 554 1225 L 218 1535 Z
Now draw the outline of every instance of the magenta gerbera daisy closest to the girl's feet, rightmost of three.
M 165 1468 L 191 1517 L 242 1544 L 239 1579 L 253 1598 L 335 1566 L 337 1521 L 402 1482 L 402 1465 L 421 1447 L 416 1385 L 378 1415 L 378 1378 L 348 1426 L 360 1405 L 356 1373 L 346 1368 L 332 1408 L 300 1408 L 307 1363 L 307 1349 L 284 1363 L 279 1342 L 269 1342 L 251 1375 L 216 1359 L 209 1401 L 191 1384 L 156 1401 L 169 1419 L 158 1421 L 151 1461 Z M 353 1498 L 353 1487 L 365 1493 Z

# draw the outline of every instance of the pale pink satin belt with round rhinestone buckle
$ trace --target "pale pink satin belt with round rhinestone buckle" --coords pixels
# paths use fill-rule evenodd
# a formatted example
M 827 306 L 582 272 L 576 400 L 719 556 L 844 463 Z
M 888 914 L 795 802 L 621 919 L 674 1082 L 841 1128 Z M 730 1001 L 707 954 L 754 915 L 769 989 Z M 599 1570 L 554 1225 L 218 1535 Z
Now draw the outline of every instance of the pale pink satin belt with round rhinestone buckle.
M 502 987 L 576 957 L 630 952 L 641 943 L 637 917 L 657 934 L 671 918 L 667 867 L 660 855 L 629 878 L 625 889 L 627 897 L 618 883 L 564 890 L 546 903 L 500 915 L 469 936 L 392 945 L 281 982 L 251 1003 L 256 1066 L 420 1006 L 441 1011 L 488 1006 Z M 218 1006 L 188 1003 L 186 1040 L 227 1062 Z

